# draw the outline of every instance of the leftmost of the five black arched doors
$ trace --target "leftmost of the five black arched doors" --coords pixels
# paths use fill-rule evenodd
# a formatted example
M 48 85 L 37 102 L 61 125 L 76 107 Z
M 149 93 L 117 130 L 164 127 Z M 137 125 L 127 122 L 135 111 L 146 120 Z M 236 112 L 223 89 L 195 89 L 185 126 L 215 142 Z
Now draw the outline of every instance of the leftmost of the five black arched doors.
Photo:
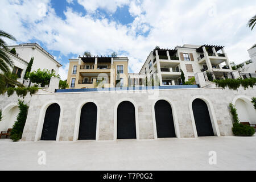
M 56 140 L 57 130 L 60 119 L 60 106 L 58 104 L 50 105 L 46 110 L 41 140 Z

